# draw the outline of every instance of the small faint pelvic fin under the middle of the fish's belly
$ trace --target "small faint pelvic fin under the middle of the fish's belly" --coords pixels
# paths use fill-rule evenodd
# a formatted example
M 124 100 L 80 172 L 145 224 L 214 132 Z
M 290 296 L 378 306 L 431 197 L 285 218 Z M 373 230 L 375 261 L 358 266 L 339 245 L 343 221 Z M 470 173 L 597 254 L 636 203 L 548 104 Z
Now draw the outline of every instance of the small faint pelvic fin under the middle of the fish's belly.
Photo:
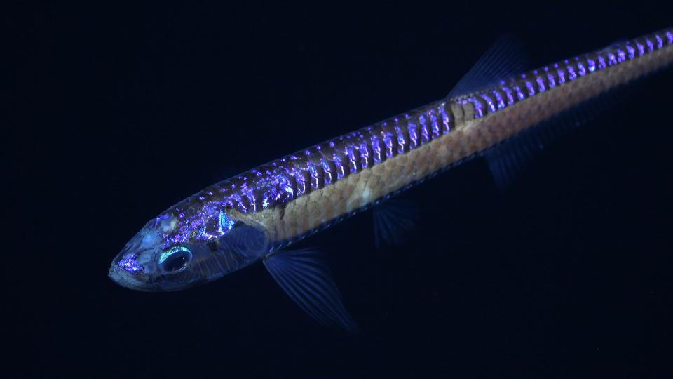
M 374 207 L 374 246 L 402 244 L 418 220 L 418 208 L 411 201 L 397 198 L 383 201 Z

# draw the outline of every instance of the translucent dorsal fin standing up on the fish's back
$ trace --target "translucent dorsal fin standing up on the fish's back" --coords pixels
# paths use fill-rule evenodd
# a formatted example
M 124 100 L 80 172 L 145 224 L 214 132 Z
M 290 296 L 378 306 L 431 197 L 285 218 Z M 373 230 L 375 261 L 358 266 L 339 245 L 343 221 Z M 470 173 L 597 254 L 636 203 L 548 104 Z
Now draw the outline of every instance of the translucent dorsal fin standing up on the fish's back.
M 499 84 L 512 75 L 524 72 L 527 61 L 523 45 L 517 39 L 510 35 L 501 36 L 458 81 L 447 98 L 456 98 Z

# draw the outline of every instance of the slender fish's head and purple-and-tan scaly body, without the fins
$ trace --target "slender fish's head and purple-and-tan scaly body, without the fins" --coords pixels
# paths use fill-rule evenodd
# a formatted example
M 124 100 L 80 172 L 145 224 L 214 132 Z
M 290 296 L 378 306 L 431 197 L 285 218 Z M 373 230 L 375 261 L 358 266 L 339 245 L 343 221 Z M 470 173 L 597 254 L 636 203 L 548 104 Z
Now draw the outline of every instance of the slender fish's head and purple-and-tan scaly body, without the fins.
M 671 62 L 673 29 L 667 29 L 271 161 L 147 222 L 109 275 L 142 291 L 212 281 Z

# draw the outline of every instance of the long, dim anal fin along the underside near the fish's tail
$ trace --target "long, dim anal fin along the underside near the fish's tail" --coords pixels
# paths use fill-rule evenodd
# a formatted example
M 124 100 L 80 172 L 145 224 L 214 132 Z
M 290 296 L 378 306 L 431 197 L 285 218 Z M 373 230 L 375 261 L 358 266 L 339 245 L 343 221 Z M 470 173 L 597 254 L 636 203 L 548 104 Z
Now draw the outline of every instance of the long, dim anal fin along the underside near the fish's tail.
M 595 119 L 622 100 L 624 93 L 622 89 L 617 89 L 587 100 L 487 150 L 484 155 L 498 189 L 508 189 L 524 173 L 536 154 L 559 136 Z

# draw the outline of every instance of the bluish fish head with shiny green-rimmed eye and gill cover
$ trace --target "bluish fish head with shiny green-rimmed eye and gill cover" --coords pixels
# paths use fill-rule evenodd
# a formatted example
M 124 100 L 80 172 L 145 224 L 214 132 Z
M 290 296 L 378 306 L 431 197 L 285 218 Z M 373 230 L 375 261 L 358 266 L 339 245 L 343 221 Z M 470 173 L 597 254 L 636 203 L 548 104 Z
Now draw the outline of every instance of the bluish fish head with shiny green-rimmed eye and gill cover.
M 264 229 L 225 211 L 198 218 L 167 212 L 150 220 L 109 268 L 117 284 L 138 291 L 179 291 L 223 277 L 269 252 Z

